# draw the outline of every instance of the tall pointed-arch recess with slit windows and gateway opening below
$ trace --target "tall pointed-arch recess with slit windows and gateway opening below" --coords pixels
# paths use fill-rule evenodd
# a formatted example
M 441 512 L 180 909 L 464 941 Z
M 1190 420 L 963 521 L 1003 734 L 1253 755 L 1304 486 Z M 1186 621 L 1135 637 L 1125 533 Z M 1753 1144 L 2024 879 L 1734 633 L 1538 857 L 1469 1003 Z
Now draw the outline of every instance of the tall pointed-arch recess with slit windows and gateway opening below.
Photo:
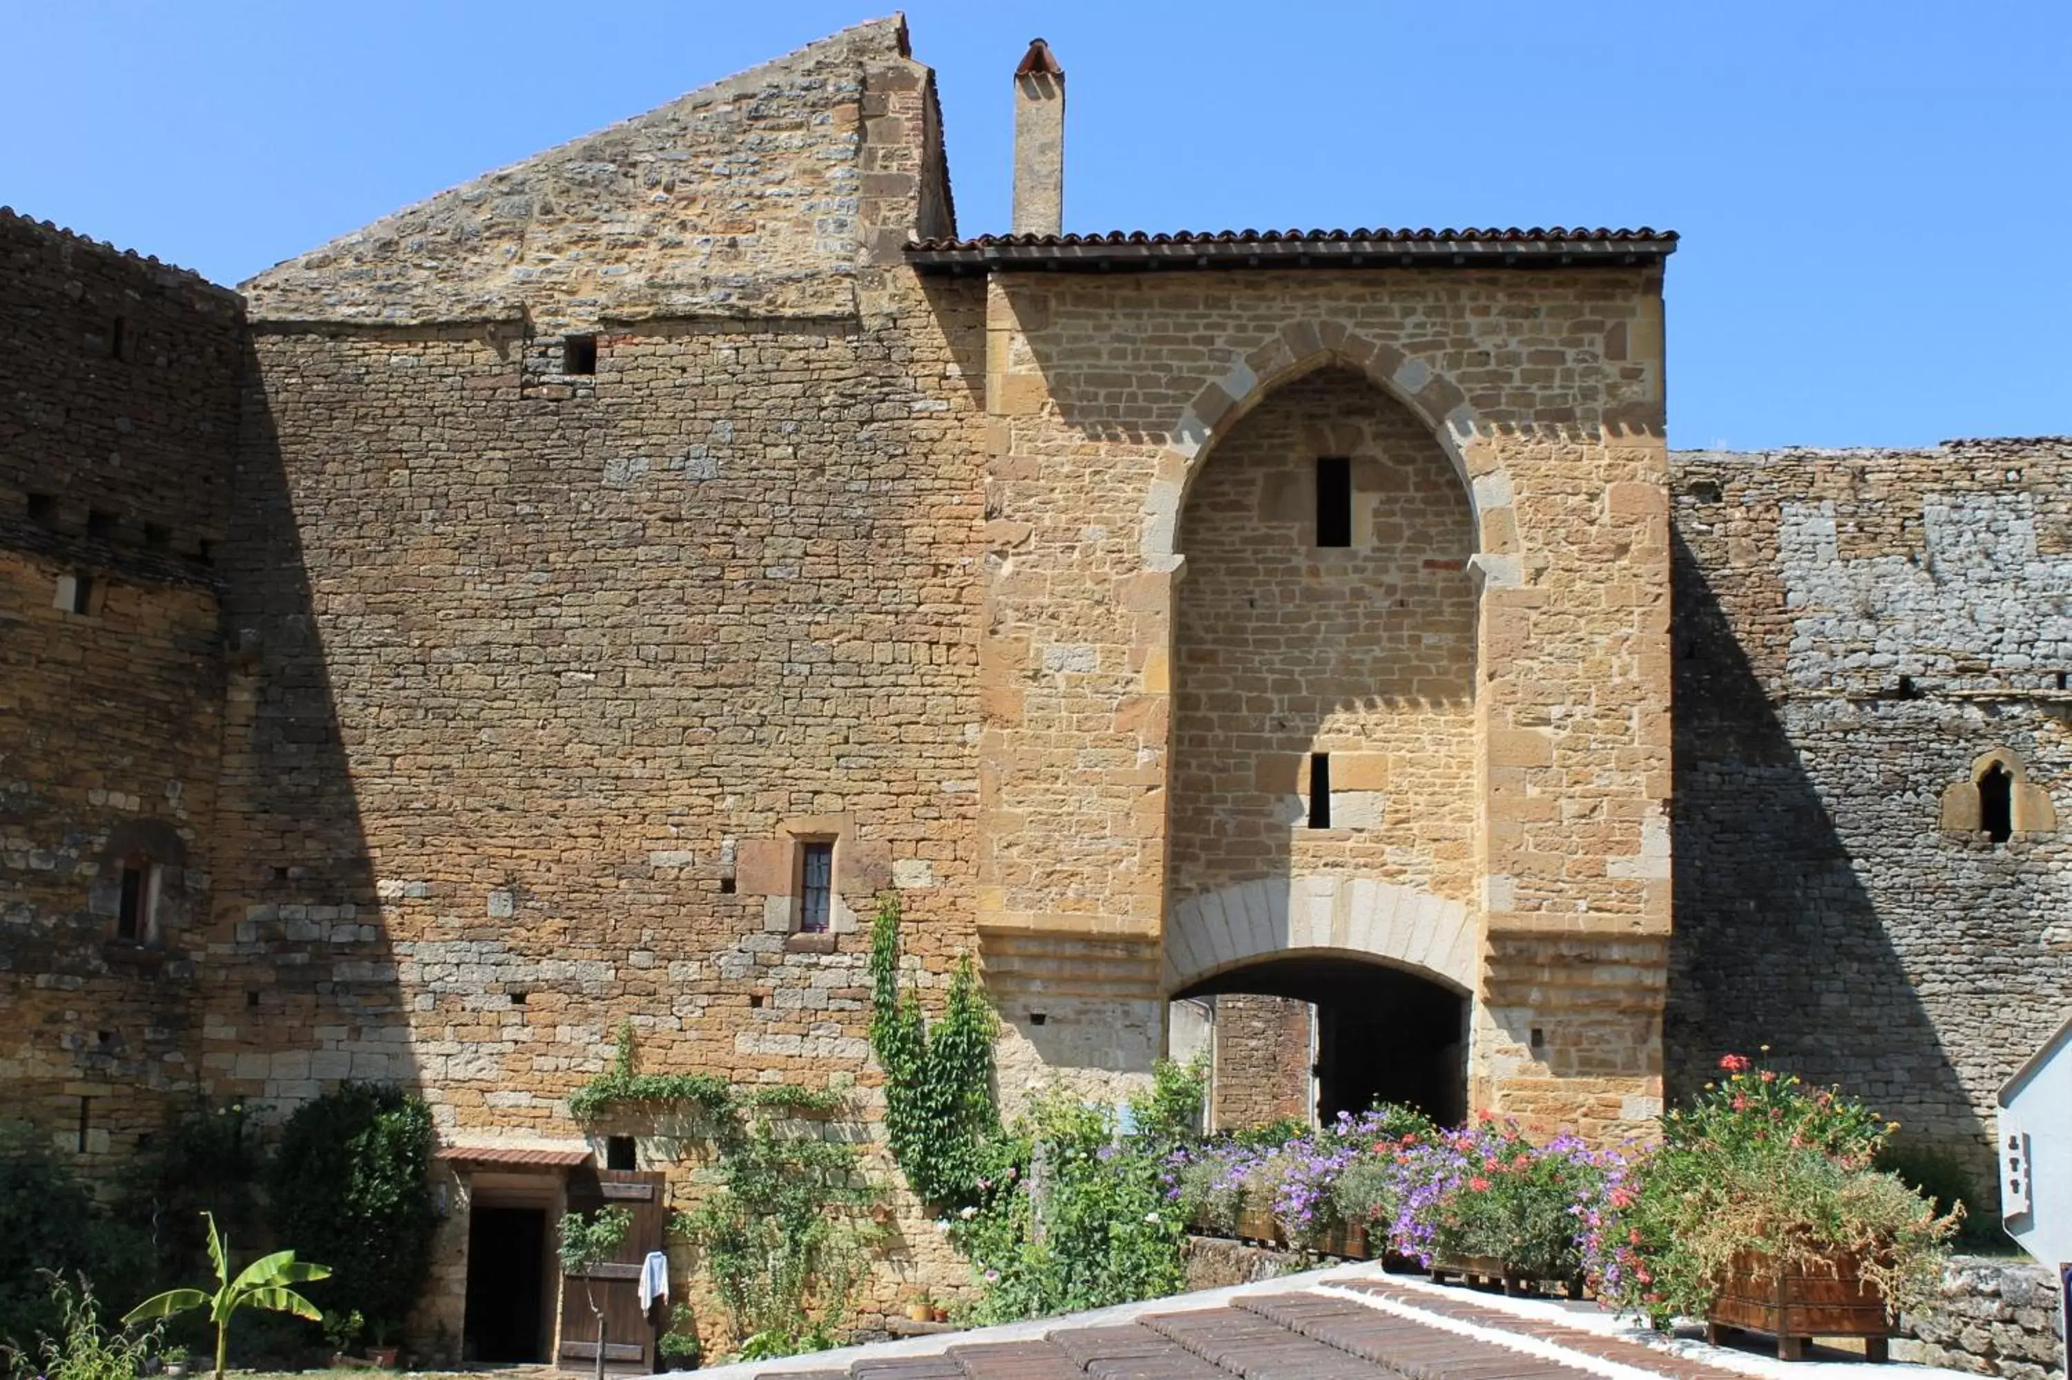
M 1357 369 L 1287 379 L 1179 518 L 1167 993 L 1222 1125 L 1467 1104 L 1475 514 Z M 1200 1003 L 1198 1003 L 1200 1005 Z

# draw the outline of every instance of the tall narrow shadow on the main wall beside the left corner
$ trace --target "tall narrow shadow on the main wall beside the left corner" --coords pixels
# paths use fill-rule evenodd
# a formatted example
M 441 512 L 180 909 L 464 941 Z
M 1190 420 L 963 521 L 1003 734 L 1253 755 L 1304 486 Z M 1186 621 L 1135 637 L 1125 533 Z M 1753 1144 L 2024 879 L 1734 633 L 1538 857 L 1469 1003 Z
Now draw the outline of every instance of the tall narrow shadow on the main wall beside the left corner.
M 218 562 L 230 705 L 205 1082 L 263 1115 L 286 1115 L 344 1080 L 416 1090 L 400 955 L 381 918 L 298 526 L 332 514 L 296 512 L 251 346 L 230 514 Z

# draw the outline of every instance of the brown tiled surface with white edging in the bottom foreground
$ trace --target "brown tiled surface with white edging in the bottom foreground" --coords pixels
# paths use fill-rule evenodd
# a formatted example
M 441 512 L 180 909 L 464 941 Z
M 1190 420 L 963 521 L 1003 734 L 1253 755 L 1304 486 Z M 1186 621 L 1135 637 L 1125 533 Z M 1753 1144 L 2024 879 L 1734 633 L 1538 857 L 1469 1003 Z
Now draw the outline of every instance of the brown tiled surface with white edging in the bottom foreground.
M 1873 1380 L 1869 1361 L 1784 1363 L 1693 1341 L 1649 1343 L 1552 1301 L 1341 1266 L 872 1347 L 727 1365 L 702 1380 Z M 1908 1380 L 1948 1378 L 1908 1365 Z

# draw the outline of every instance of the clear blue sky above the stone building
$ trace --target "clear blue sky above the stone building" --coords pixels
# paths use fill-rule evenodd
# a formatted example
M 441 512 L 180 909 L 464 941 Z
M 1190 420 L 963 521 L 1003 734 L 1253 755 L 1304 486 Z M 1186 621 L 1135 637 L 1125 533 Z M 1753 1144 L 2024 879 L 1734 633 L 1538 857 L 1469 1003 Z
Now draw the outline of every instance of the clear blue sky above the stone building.
M 0 201 L 236 282 L 887 10 L 0 0 Z M 2066 0 L 905 12 L 968 234 L 1042 35 L 1071 230 L 1666 226 L 1676 445 L 2072 433 Z

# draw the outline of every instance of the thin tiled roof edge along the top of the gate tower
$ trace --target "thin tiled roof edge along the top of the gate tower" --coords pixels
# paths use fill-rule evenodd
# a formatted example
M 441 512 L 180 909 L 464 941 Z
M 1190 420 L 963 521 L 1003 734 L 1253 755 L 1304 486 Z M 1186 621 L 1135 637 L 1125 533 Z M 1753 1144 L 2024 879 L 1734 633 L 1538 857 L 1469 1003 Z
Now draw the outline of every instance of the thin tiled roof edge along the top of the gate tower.
M 980 234 L 905 247 L 922 271 L 1160 267 L 1571 267 L 1660 261 L 1674 230 L 1111 230 L 1109 234 Z

